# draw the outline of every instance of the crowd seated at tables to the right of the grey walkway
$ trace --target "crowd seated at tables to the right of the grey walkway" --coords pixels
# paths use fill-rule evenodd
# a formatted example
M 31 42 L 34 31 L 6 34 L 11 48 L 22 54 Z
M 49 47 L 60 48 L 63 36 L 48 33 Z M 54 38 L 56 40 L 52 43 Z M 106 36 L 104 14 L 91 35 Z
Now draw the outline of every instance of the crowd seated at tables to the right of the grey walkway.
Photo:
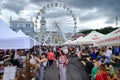
M 113 62 L 119 64 L 119 46 L 83 48 L 78 56 L 84 56 L 84 51 L 88 56 L 82 63 L 92 80 L 118 80 L 120 78 L 120 74 L 116 75 L 112 66 Z

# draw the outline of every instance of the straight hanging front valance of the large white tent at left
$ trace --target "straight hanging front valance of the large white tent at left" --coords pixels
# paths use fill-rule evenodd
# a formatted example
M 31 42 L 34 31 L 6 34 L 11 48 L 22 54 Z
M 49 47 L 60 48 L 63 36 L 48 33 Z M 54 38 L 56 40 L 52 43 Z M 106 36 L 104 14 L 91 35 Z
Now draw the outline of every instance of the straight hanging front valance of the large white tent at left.
M 12 37 L 0 39 L 0 49 L 29 49 L 33 41 L 29 37 Z

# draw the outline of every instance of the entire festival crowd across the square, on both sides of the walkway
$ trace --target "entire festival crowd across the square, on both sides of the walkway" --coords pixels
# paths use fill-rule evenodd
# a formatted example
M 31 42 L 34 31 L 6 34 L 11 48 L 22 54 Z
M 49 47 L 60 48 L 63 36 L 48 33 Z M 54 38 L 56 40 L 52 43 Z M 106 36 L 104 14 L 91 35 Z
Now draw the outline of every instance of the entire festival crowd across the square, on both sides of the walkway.
M 111 64 L 113 60 L 116 63 L 120 61 L 119 46 L 35 46 L 30 50 L 0 50 L 0 61 L 4 61 L 4 65 L 19 68 L 17 80 L 44 80 L 46 68 L 52 68 L 55 62 L 59 80 L 67 80 L 68 55 L 77 56 L 81 60 L 91 80 L 120 78 L 120 69 L 116 72 Z

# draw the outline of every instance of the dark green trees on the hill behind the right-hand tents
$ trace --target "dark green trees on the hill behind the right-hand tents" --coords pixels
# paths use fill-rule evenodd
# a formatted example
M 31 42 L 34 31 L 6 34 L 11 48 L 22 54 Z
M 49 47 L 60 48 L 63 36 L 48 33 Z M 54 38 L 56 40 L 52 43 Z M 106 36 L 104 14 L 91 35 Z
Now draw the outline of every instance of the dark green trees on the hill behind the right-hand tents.
M 101 29 L 84 30 L 84 31 L 81 31 L 79 33 L 89 34 L 91 31 L 97 31 L 97 32 L 100 32 L 102 34 L 108 34 L 108 33 L 112 32 L 112 31 L 114 31 L 116 29 L 118 29 L 118 27 L 117 28 L 113 28 L 113 27 L 109 26 L 109 27 L 105 27 L 105 28 L 101 28 Z

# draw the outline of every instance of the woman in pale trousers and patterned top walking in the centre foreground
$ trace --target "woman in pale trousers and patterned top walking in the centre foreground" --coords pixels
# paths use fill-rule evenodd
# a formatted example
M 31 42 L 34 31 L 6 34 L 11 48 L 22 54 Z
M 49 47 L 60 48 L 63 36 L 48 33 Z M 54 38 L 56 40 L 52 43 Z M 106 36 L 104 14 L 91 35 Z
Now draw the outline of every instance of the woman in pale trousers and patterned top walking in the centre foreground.
M 59 71 L 59 80 L 67 80 L 66 79 L 66 65 L 68 64 L 68 59 L 63 53 L 62 50 L 58 51 L 58 58 L 56 60 L 56 65 Z

